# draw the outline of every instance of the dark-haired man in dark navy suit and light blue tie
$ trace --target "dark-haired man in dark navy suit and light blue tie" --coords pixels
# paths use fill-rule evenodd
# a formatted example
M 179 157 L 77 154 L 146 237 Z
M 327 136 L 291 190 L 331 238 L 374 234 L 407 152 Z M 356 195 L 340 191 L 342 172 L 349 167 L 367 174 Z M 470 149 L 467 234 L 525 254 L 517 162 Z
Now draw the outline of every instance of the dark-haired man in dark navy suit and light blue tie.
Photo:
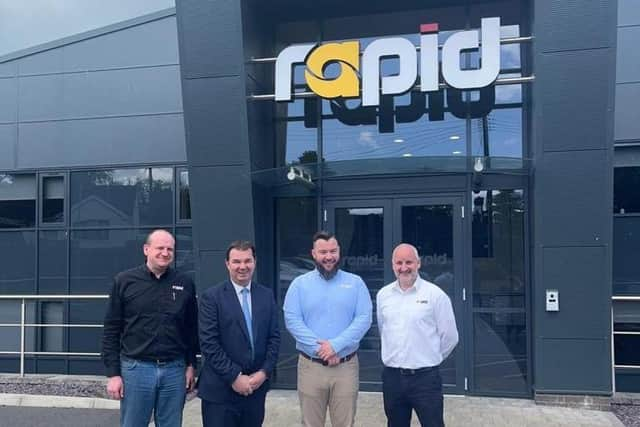
M 229 280 L 200 298 L 202 421 L 204 427 L 261 426 L 280 347 L 278 310 L 273 292 L 251 281 L 251 242 L 231 243 L 225 264 Z

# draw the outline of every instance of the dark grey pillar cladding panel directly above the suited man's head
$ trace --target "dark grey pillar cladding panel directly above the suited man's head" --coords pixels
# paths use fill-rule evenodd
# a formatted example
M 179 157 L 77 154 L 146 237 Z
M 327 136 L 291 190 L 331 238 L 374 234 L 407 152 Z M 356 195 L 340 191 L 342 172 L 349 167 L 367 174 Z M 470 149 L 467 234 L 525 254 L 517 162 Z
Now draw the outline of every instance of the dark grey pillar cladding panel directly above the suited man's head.
M 253 240 L 251 176 L 245 166 L 189 170 L 194 227 L 200 250 L 223 250 L 237 239 Z M 215 230 L 215 232 L 212 232 Z

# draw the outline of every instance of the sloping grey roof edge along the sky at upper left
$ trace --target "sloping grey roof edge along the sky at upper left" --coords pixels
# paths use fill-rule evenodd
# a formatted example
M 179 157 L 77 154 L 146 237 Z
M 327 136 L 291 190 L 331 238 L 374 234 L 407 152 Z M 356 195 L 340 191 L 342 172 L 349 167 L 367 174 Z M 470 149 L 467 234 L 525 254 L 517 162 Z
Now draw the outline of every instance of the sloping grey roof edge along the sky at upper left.
M 146 24 L 148 22 L 158 21 L 160 19 L 172 16 L 175 14 L 176 14 L 176 8 L 170 7 L 170 8 L 162 9 L 146 15 L 141 15 L 136 18 L 127 19 L 126 21 L 116 22 L 114 24 L 96 28 L 94 30 L 85 31 L 82 33 L 74 34 L 72 36 L 63 37 L 61 39 L 42 43 L 36 46 L 28 47 L 26 49 L 21 49 L 15 52 L 11 52 L 6 55 L 0 55 L 0 64 L 14 61 L 16 59 L 24 58 L 26 56 L 34 55 L 36 53 L 46 52 L 47 50 L 56 49 L 56 48 L 77 43 L 83 40 L 88 40 L 94 37 L 113 33 L 115 31 L 120 31 L 126 28 L 131 28 L 138 25 Z

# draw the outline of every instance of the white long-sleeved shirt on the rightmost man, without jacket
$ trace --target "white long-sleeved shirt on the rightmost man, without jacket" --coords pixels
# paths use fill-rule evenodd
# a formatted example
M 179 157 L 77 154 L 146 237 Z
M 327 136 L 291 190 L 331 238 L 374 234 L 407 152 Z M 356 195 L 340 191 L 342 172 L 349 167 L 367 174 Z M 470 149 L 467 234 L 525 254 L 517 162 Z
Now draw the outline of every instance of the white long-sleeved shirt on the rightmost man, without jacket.
M 395 281 L 378 291 L 376 302 L 385 366 L 438 366 L 458 344 L 451 300 L 433 283 L 418 277 L 403 291 Z

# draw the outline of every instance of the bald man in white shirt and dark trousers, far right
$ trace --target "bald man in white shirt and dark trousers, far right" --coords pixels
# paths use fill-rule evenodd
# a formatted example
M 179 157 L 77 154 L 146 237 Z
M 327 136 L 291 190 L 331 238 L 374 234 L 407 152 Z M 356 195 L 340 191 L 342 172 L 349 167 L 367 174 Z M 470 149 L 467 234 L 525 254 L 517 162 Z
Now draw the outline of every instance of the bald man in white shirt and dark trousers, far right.
M 409 427 L 415 410 L 422 426 L 444 426 L 438 366 L 458 344 L 451 300 L 418 275 L 418 250 L 402 243 L 393 250 L 397 280 L 378 291 L 382 342 L 382 394 L 389 427 Z

